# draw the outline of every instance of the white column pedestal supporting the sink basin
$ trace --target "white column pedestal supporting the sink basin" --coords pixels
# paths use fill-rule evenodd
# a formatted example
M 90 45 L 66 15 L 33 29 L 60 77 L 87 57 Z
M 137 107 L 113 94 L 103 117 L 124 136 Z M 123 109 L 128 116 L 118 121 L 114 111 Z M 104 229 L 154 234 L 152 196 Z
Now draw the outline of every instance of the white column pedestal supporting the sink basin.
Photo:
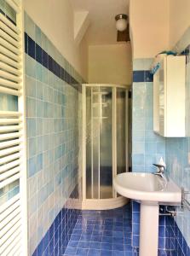
M 158 205 L 141 201 L 140 256 L 158 255 Z

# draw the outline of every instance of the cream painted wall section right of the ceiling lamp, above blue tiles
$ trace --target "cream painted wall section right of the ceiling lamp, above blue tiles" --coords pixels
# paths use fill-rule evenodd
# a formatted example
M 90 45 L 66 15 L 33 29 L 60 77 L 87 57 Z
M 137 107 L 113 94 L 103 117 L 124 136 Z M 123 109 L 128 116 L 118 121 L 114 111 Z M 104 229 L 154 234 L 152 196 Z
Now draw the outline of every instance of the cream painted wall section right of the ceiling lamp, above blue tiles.
M 152 58 L 169 48 L 170 1 L 130 0 L 134 59 Z

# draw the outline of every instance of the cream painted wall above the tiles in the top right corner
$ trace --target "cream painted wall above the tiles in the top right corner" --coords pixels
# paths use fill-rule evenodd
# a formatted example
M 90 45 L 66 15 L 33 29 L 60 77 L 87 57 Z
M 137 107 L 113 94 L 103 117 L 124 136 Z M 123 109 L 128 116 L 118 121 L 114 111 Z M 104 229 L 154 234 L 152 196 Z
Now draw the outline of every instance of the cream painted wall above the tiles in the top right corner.
M 170 0 L 170 47 L 175 46 L 188 26 L 190 26 L 190 1 Z

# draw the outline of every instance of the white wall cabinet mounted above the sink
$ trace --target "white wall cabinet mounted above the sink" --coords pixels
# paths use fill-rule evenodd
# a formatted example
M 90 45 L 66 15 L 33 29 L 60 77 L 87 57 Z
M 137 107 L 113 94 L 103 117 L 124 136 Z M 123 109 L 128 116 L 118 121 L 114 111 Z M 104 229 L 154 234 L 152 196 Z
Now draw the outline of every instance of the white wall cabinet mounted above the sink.
M 185 137 L 186 56 L 164 56 L 153 76 L 153 130 Z

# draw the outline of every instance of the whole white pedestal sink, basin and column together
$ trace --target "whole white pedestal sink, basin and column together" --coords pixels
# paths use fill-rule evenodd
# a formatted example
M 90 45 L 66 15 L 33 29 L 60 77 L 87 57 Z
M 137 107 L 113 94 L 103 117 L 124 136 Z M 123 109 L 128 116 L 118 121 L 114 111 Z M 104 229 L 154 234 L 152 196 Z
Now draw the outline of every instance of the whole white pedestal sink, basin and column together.
M 158 255 L 159 204 L 181 203 L 181 189 L 151 173 L 124 172 L 113 179 L 118 194 L 141 202 L 140 256 Z

